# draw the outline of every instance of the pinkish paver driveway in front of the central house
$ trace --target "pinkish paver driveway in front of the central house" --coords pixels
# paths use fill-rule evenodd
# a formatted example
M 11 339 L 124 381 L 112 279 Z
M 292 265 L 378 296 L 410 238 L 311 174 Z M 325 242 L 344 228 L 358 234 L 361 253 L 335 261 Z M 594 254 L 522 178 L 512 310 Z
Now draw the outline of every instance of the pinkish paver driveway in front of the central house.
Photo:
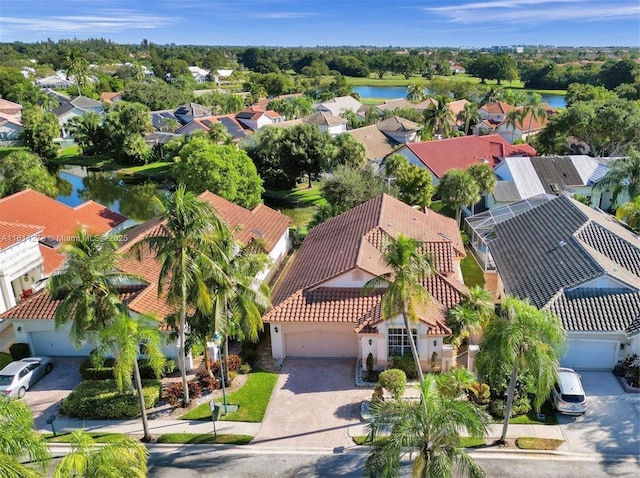
M 354 385 L 355 360 L 287 359 L 252 445 L 352 446 L 349 425 L 372 390 Z

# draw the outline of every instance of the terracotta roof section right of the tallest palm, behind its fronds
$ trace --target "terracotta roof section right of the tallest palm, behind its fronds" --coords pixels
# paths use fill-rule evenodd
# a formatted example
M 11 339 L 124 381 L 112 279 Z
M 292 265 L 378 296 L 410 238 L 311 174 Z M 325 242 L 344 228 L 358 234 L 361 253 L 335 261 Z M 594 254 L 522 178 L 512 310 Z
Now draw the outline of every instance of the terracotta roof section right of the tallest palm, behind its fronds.
M 211 204 L 230 228 L 239 228 L 235 237 L 244 245 L 259 239 L 271 252 L 291 225 L 291 218 L 264 204 L 249 210 L 209 191 L 199 197 Z

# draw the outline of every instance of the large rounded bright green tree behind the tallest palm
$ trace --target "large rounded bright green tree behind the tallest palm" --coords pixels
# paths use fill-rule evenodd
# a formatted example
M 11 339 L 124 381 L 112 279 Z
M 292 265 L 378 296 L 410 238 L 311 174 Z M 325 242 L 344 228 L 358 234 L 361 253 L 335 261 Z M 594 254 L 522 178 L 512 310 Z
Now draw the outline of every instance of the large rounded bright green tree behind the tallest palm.
M 192 135 L 182 146 L 173 173 L 195 194 L 209 190 L 249 209 L 262 200 L 262 180 L 247 153 L 214 144 L 204 134 Z

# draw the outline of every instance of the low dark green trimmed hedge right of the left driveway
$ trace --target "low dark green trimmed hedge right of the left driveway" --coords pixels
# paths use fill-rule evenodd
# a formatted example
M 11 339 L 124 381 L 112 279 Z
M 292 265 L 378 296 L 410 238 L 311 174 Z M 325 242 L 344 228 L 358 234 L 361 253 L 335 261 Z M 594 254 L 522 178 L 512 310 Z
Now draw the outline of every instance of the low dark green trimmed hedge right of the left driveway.
M 143 380 L 142 386 L 146 408 L 151 408 L 160 398 L 162 385 L 158 380 Z M 95 420 L 134 418 L 140 415 L 140 405 L 136 395 L 121 394 L 115 380 L 87 380 L 64 399 L 60 412 Z

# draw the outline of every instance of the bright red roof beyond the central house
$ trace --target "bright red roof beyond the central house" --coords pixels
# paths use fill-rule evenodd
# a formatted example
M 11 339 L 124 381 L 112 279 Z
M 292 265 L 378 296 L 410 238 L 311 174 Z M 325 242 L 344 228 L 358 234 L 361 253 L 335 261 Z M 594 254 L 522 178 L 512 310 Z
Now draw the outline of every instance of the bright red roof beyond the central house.
M 461 136 L 405 145 L 437 178 L 450 169 L 466 169 L 472 164 L 496 166 L 501 158 L 535 155 L 529 145 L 511 145 L 499 134 Z M 533 154 L 530 154 L 533 153 Z

